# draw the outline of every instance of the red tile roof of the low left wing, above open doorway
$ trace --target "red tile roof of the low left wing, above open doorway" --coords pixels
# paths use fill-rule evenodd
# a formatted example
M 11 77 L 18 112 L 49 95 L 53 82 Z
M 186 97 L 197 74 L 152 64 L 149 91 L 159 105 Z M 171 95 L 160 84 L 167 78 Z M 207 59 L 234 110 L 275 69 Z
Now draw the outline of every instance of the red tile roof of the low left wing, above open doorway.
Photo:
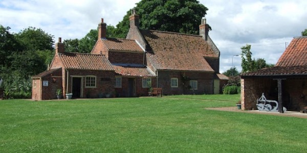
M 81 53 L 58 53 L 63 66 L 68 69 L 114 70 L 104 55 Z

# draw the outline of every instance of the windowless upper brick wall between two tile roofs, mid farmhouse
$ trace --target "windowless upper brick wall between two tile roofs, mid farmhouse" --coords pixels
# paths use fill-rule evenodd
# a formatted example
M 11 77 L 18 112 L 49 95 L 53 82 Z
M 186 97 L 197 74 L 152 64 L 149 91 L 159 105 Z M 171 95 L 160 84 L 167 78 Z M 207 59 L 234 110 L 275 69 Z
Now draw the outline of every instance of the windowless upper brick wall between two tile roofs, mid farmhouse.
M 143 53 L 109 52 L 108 54 L 111 63 L 143 64 Z M 146 61 L 144 62 L 146 64 Z

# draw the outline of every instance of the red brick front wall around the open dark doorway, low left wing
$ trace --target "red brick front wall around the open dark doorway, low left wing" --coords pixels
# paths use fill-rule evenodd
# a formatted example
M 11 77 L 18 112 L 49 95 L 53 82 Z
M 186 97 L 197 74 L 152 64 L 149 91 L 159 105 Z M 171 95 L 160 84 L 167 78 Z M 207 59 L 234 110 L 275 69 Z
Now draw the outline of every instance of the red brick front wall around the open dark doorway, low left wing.
M 114 84 L 115 84 L 115 72 L 114 71 L 100 71 L 100 70 L 68 70 L 69 71 L 69 84 L 68 92 L 72 93 L 72 75 L 82 77 L 83 94 L 81 97 L 97 98 L 100 93 L 109 93 L 111 96 L 115 95 Z M 66 76 L 67 74 L 65 74 Z M 96 76 L 96 88 L 85 88 L 85 76 L 94 75 Z M 109 78 L 109 81 L 101 80 L 101 78 Z M 65 80 L 65 84 L 67 81 Z M 66 88 L 64 88 L 66 90 Z

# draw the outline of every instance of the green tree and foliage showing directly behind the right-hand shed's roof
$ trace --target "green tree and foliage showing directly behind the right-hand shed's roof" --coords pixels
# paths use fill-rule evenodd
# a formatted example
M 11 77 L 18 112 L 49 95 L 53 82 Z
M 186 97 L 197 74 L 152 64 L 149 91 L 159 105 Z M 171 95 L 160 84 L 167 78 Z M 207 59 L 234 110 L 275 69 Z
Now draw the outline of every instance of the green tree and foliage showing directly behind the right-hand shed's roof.
M 246 46 L 241 47 L 242 49 L 242 73 L 255 71 L 261 68 L 272 67 L 274 64 L 267 64 L 265 59 L 252 59 L 251 45 L 246 44 Z

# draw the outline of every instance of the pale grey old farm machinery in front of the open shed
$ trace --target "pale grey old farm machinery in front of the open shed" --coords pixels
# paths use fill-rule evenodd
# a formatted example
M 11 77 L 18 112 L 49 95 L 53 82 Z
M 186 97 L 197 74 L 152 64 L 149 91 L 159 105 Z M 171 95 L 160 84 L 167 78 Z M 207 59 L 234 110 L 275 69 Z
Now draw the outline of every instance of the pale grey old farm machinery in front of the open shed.
M 257 108 L 259 111 L 278 112 L 278 102 L 276 100 L 267 100 L 264 93 L 257 100 Z M 283 111 L 287 111 L 285 107 L 282 107 Z

